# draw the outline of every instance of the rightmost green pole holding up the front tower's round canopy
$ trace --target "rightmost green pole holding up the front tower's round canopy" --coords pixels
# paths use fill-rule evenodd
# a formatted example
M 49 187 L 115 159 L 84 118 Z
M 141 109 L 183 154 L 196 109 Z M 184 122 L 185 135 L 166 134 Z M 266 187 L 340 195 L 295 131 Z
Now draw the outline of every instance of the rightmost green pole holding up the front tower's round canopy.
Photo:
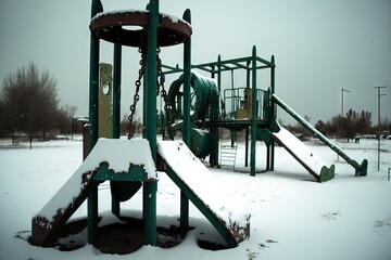
M 191 13 L 187 9 L 184 20 L 191 24 Z M 190 69 L 191 38 L 184 43 L 184 142 L 190 147 Z M 185 237 L 189 230 L 189 198 L 180 192 L 180 236 Z

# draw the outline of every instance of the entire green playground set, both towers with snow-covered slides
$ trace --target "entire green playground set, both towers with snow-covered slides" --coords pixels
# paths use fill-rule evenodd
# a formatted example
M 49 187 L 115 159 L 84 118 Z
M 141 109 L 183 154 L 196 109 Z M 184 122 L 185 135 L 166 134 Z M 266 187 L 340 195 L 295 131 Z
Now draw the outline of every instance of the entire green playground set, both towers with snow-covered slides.
M 180 188 L 180 233 L 189 231 L 189 200 L 205 216 L 226 242 L 227 247 L 250 237 L 250 213 L 242 212 L 234 219 L 229 207 L 218 210 L 210 196 L 191 182 L 189 174 L 211 178 L 210 170 L 198 159 L 209 156 L 212 167 L 218 162 L 218 128 L 231 131 L 245 129 L 247 158 L 251 133 L 251 176 L 255 176 L 255 142 L 261 139 L 267 146 L 266 170 L 274 170 L 275 141 L 285 146 L 319 182 L 333 178 L 333 166 L 311 167 L 313 156 L 294 151 L 293 135 L 283 133 L 276 122 L 276 105 L 281 106 L 323 142 L 341 155 L 365 176 L 367 162 L 358 165 L 335 146 L 311 125 L 301 120 L 289 106 L 275 95 L 275 58 L 266 61 L 252 55 L 242 58 L 191 65 L 191 17 L 186 10 L 184 18 L 160 14 L 159 0 L 150 0 L 146 11 L 103 12 L 100 0 L 92 0 L 90 42 L 90 101 L 89 101 L 89 155 L 64 186 L 33 218 L 31 244 L 48 246 L 76 209 L 87 199 L 88 243 L 98 242 L 98 186 L 110 181 L 112 212 L 118 218 L 121 203 L 130 199 L 142 187 L 143 244 L 156 245 L 156 170 L 165 171 Z M 135 29 L 129 29 L 133 27 Z M 100 39 L 114 43 L 113 67 L 100 64 Z M 184 44 L 184 68 L 163 65 L 159 57 L 161 47 Z M 121 64 L 123 46 L 139 49 L 141 61 L 136 94 L 130 106 L 129 139 L 119 140 Z M 191 73 L 191 68 L 211 73 L 212 78 Z M 220 74 L 245 69 L 247 86 L 224 90 Z M 270 69 L 270 88 L 257 89 L 256 70 Z M 112 74 L 113 70 L 113 74 Z M 181 73 L 168 93 L 164 89 L 164 75 Z M 140 99 L 143 80 L 143 139 L 131 139 L 133 116 Z M 193 93 L 191 93 L 191 88 Z M 166 139 L 182 132 L 182 141 L 156 141 L 156 95 L 161 92 L 165 109 L 161 113 L 161 128 Z M 219 107 L 223 107 L 219 109 Z M 147 116 L 148 115 L 148 116 Z M 250 132 L 251 130 L 251 132 Z M 279 134 L 281 132 L 281 134 Z M 293 138 L 292 138 L 293 136 Z M 100 139 L 105 138 L 105 139 Z M 300 142 L 300 141 L 299 141 Z M 293 145 L 293 146 L 292 146 Z M 300 143 L 300 145 L 303 145 Z M 189 151 L 188 147 L 191 147 Z M 303 150 L 301 150 L 303 151 Z M 178 161 L 180 157 L 181 161 Z M 178 167 L 181 165 L 182 167 Z M 318 160 L 316 160 L 318 165 Z M 186 170 L 186 167 L 191 170 Z M 194 170 L 197 169 L 197 170 Z M 220 208 L 218 205 L 217 208 Z M 238 213 L 236 214 L 238 216 Z

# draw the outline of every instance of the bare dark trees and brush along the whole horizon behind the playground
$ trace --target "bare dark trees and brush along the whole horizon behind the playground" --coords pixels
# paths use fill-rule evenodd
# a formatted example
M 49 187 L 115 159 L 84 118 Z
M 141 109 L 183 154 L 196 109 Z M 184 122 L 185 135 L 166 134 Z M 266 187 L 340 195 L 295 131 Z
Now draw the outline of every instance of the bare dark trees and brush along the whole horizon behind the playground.
M 29 63 L 27 67 L 23 66 L 3 78 L 0 91 L 0 136 L 29 135 L 45 139 L 53 134 L 71 133 L 76 109 L 72 105 L 60 106 L 56 80 L 48 70 L 40 73 L 34 63 Z M 308 117 L 305 119 L 311 120 Z M 127 132 L 127 117 L 124 116 L 122 133 Z M 141 132 L 141 121 L 138 119 L 134 125 L 136 132 Z M 311 135 L 299 123 L 287 127 L 291 131 Z M 343 116 L 338 115 L 315 123 L 315 128 L 325 135 L 339 139 L 375 134 L 377 127 L 373 127 L 371 113 L 353 109 L 349 109 Z M 383 119 L 380 129 L 391 130 L 391 121 Z

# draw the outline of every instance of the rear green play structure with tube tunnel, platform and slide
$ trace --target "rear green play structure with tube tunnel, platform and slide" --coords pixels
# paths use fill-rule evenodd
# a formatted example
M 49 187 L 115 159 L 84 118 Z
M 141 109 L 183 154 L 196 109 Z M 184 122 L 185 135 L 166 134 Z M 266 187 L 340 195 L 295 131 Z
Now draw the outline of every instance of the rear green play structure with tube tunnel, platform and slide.
M 335 166 L 329 167 L 293 134 L 285 130 L 277 122 L 276 106 L 281 107 L 291 115 L 299 123 L 308 130 L 314 136 L 319 139 L 325 145 L 341 156 L 348 164 L 355 169 L 355 176 L 366 176 L 367 160 L 361 165 L 350 158 L 341 148 L 321 134 L 317 129 L 311 126 L 304 118 L 289 107 L 275 93 L 275 57 L 266 61 L 256 55 L 256 49 L 253 47 L 252 55 L 232 60 L 222 61 L 218 56 L 217 62 L 192 65 L 191 73 L 191 151 L 199 157 L 204 158 L 209 155 L 210 166 L 219 167 L 222 155 L 222 145 L 219 144 L 219 128 L 229 129 L 231 133 L 231 145 L 236 142 L 236 132 L 245 130 L 245 156 L 244 167 L 248 167 L 249 150 L 250 153 L 250 174 L 255 176 L 256 161 L 256 140 L 266 144 L 266 169 L 273 171 L 275 167 L 275 143 L 285 147 L 318 182 L 325 182 L 335 178 Z M 178 66 L 163 65 L 164 74 L 182 73 Z M 195 69 L 211 74 L 211 78 L 201 76 Z M 222 74 L 230 72 L 231 77 L 235 70 L 244 70 L 247 75 L 245 87 L 236 88 L 234 83 L 230 88 L 223 88 Z M 269 88 L 257 89 L 256 74 L 258 69 L 269 69 Z M 163 120 L 162 123 L 172 121 L 167 131 L 172 139 L 174 131 L 181 130 L 186 115 L 181 113 L 185 109 L 184 91 L 180 91 L 182 77 L 175 80 L 168 92 L 168 104 L 173 107 L 172 118 Z M 234 82 L 231 78 L 231 82 Z M 224 91 L 222 91 L 224 90 Z M 253 116 L 255 115 L 255 116 Z M 164 118 L 164 115 L 162 115 Z M 207 129 L 207 131 L 205 131 Z M 251 131 L 250 131 L 251 130 Z M 280 130 L 285 134 L 280 134 Z M 251 136 L 251 140 L 249 139 Z M 250 142 L 250 145 L 249 145 Z M 250 147 L 250 148 L 249 148 Z

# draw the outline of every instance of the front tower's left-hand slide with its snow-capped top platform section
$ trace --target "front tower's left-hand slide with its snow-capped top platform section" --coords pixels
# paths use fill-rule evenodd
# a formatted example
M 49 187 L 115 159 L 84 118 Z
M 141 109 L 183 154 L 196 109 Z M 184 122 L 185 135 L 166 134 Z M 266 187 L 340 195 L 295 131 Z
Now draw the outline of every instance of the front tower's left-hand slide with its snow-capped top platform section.
M 156 181 L 146 139 L 100 139 L 85 161 L 33 218 L 31 244 L 48 246 L 100 181 Z

